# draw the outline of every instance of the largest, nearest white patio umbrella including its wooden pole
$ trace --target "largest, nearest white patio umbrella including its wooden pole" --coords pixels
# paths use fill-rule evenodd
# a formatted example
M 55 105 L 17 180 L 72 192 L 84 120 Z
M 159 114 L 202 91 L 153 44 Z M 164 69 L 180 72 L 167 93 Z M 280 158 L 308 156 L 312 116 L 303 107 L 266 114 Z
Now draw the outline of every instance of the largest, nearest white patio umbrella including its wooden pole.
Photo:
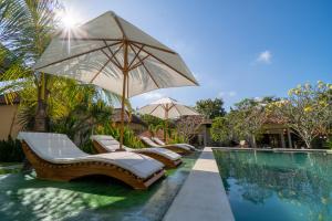
M 34 70 L 121 95 L 121 148 L 125 98 L 157 88 L 198 85 L 176 52 L 114 12 L 106 12 L 70 33 L 59 33 Z

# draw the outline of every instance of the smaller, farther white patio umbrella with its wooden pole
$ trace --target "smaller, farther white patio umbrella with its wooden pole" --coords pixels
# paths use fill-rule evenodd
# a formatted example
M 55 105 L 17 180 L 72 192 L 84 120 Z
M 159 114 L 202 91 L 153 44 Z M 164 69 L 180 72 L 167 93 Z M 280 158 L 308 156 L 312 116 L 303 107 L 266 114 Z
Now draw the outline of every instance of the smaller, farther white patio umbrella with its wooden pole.
M 165 119 L 165 130 L 167 131 L 167 120 L 187 115 L 199 115 L 194 108 L 178 103 L 170 97 L 160 98 L 138 109 L 141 114 L 148 114 Z M 165 133 L 167 143 L 167 133 Z

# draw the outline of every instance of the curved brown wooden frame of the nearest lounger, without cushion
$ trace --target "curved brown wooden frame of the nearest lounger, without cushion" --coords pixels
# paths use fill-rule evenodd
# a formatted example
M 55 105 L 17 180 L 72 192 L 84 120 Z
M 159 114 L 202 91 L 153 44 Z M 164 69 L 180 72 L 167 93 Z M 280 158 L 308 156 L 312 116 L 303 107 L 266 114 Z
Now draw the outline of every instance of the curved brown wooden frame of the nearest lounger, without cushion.
M 22 141 L 22 148 L 28 160 L 35 169 L 37 177 L 40 179 L 69 181 L 85 176 L 104 175 L 121 180 L 134 189 L 145 190 L 160 177 L 165 176 L 165 170 L 160 169 L 153 176 L 142 179 L 116 165 L 95 160 L 72 164 L 53 164 L 41 159 L 25 141 Z

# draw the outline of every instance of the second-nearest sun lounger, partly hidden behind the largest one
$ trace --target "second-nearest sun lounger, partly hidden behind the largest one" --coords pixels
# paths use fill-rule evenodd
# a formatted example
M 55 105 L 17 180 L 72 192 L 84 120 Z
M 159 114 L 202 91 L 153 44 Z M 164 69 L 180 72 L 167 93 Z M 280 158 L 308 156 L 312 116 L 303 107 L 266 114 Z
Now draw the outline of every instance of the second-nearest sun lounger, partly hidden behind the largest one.
M 98 154 L 114 152 L 117 151 L 120 148 L 120 143 L 108 135 L 93 135 L 91 136 L 91 139 L 95 150 Z M 179 164 L 181 164 L 180 155 L 165 148 L 153 147 L 153 148 L 133 149 L 133 148 L 124 147 L 124 149 L 126 151 L 137 152 L 154 158 L 163 162 L 166 166 L 166 168 L 175 168 Z

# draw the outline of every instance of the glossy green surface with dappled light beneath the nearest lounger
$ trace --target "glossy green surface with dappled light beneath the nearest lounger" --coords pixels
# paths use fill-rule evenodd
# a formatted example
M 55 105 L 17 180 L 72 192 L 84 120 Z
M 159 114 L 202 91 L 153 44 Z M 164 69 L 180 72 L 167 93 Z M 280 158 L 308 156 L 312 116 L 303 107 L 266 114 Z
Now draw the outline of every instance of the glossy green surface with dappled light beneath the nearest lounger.
M 45 181 L 35 175 L 0 176 L 0 218 L 6 220 L 160 220 L 198 154 L 146 191 L 115 180 Z

